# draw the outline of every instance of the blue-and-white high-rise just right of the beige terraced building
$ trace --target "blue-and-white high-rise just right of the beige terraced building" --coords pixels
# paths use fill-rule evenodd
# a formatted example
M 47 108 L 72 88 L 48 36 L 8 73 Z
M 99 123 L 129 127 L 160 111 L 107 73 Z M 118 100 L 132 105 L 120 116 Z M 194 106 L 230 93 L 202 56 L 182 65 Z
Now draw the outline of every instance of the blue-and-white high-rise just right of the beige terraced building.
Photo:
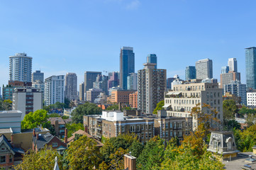
M 223 86 L 224 93 L 230 92 L 235 96 L 241 97 L 242 104 L 247 105 L 246 84 L 241 84 L 240 81 L 231 81 L 230 84 Z

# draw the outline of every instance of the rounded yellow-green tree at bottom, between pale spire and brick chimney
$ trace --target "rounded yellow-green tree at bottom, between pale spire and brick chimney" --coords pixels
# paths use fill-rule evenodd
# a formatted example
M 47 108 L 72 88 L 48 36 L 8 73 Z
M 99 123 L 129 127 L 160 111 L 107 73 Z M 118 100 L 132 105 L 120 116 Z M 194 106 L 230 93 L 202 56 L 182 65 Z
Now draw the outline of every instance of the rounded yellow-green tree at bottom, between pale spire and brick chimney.
M 69 169 L 94 169 L 101 163 L 99 147 L 96 147 L 96 141 L 86 135 L 79 137 L 71 143 L 67 149 Z

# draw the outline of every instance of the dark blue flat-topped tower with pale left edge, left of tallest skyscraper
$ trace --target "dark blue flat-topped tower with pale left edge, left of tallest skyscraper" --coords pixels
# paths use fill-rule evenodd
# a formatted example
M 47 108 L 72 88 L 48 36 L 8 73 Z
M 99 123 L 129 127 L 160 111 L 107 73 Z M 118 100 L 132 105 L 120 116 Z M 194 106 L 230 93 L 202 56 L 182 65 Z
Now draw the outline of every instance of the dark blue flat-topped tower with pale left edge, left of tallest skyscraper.
M 86 99 L 87 91 L 94 87 L 94 81 L 101 72 L 84 72 L 84 99 Z

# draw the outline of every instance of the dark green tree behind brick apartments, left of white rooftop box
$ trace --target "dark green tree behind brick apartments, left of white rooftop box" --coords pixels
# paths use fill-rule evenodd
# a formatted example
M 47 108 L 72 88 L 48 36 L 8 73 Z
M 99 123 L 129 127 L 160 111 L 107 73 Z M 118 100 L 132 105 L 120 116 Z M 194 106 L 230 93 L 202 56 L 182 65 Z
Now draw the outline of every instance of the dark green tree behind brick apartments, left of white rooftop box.
M 83 123 L 84 115 L 99 115 L 101 114 L 101 108 L 96 106 L 94 103 L 86 102 L 79 105 L 74 111 L 72 111 L 72 122 L 73 123 Z

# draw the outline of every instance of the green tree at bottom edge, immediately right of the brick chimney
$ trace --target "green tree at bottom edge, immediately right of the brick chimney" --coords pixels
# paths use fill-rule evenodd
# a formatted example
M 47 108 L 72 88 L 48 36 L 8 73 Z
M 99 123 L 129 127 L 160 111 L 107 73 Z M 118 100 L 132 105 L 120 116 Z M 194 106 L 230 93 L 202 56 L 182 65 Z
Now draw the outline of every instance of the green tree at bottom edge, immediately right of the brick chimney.
M 143 152 L 137 159 L 137 169 L 157 169 L 161 166 L 165 155 L 164 140 L 160 137 L 153 137 L 145 145 Z

